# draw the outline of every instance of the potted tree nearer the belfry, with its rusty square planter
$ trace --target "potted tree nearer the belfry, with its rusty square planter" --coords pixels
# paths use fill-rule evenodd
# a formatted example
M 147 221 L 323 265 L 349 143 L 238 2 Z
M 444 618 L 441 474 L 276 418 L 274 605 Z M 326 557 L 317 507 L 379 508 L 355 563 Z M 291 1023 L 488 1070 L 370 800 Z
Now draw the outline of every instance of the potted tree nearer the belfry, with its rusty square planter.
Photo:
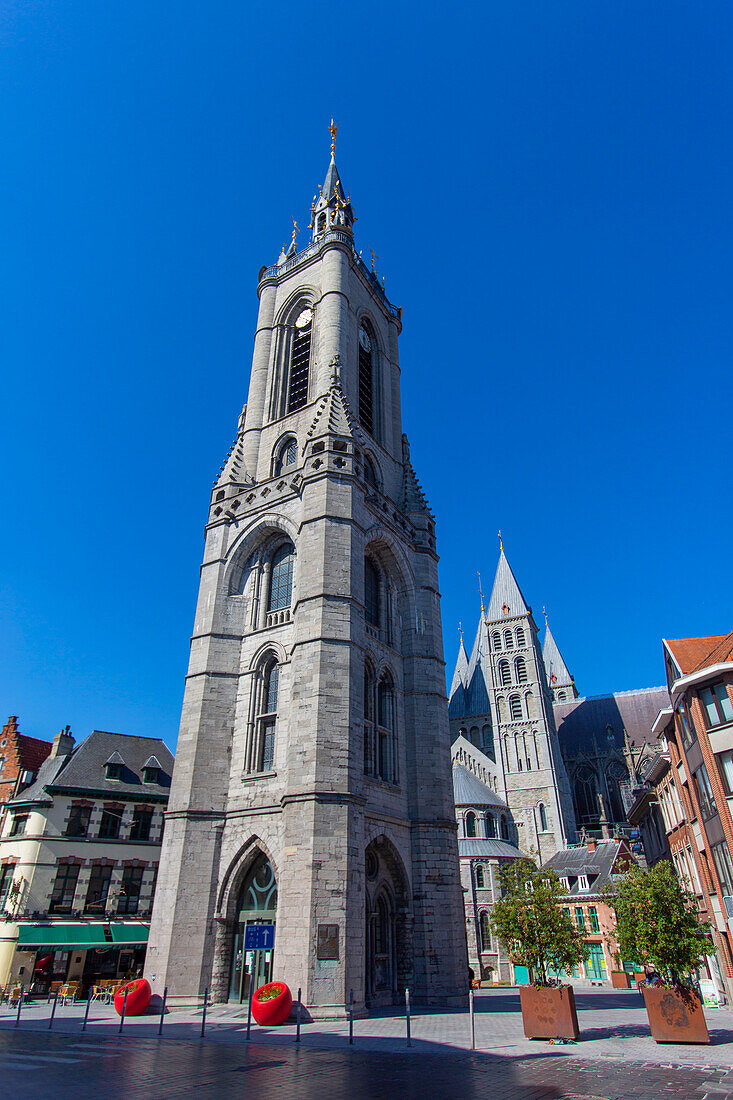
M 494 931 L 512 963 L 526 967 L 532 981 L 519 990 L 524 1034 L 577 1040 L 572 986 L 564 986 L 559 975 L 582 963 L 588 950 L 560 905 L 562 884 L 555 871 L 526 859 L 501 867 L 499 881 L 502 898 L 493 910 Z

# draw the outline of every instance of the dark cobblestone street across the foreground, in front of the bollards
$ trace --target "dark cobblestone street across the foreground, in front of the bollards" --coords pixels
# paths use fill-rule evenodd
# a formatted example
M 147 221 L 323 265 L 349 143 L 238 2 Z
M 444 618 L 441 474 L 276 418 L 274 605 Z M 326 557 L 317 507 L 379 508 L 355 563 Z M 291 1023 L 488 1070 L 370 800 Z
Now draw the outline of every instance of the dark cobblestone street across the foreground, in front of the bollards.
M 376 1053 L 250 1047 L 123 1036 L 0 1033 L 3 1096 L 54 1100 L 726 1100 L 723 1070 L 451 1050 Z

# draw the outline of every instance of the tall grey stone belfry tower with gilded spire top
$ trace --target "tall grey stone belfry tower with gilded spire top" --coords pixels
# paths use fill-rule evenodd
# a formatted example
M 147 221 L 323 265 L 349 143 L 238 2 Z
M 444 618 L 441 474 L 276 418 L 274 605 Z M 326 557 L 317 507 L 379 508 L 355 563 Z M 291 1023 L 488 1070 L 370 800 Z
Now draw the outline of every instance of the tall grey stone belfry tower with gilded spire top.
M 310 242 L 260 272 L 215 483 L 146 976 L 314 1016 L 466 999 L 435 521 L 402 433 L 393 306 L 333 156 Z M 274 950 L 244 949 L 249 924 Z

